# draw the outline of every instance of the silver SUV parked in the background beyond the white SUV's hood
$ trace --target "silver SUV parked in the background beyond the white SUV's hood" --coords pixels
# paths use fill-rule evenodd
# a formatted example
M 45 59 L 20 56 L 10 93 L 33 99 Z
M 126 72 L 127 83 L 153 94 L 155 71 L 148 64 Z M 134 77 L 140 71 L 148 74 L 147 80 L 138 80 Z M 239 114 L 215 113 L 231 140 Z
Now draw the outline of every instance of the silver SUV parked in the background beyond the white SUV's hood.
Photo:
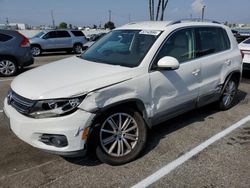
M 81 53 L 86 42 L 85 35 L 78 30 L 45 30 L 30 38 L 33 56 L 49 51 Z

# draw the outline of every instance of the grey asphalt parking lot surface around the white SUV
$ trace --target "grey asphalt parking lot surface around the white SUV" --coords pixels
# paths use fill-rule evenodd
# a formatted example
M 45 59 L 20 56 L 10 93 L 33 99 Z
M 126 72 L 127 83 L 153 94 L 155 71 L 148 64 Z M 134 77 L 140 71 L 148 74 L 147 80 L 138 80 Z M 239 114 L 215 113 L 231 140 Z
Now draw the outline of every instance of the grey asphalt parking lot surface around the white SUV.
M 23 71 L 70 56 L 43 55 Z M 250 76 L 244 72 L 233 108 L 218 111 L 209 105 L 164 122 L 149 131 L 146 150 L 139 159 L 109 166 L 95 156 L 65 159 L 50 155 L 17 139 L 7 129 L 2 111 L 12 80 L 0 78 L 0 187 L 131 187 L 250 114 Z M 249 156 L 247 122 L 150 187 L 249 187 Z

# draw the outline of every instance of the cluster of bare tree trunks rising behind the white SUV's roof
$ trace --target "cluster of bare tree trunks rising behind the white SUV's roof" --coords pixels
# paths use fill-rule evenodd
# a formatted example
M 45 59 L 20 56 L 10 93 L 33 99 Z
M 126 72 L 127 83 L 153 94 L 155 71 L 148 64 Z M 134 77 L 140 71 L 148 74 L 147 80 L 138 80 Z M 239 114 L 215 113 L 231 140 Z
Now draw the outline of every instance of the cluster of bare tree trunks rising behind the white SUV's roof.
M 166 10 L 168 0 L 158 0 L 157 9 L 156 9 L 156 16 L 155 16 L 155 1 L 148 0 L 149 3 L 149 18 L 151 21 L 153 20 L 160 20 L 163 21 L 164 19 L 164 12 Z M 161 14 L 160 14 L 161 13 Z

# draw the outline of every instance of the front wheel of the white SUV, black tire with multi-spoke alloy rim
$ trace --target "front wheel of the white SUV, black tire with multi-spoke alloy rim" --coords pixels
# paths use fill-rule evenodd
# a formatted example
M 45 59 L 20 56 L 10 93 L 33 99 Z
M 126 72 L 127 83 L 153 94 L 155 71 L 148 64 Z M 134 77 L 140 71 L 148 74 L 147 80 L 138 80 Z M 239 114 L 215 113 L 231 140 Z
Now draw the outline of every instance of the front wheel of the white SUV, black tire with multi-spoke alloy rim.
M 119 114 L 121 114 L 120 122 L 124 121 L 123 123 L 117 122 L 120 119 Z M 120 124 L 121 129 L 117 129 L 117 135 L 105 132 L 107 131 L 108 127 L 112 127 L 111 124 L 109 124 L 109 121 L 111 121 L 111 117 L 113 119 L 113 122 L 116 122 L 116 125 L 117 123 Z M 127 118 L 131 118 L 131 121 L 130 119 L 127 121 Z M 125 124 L 126 121 L 127 123 Z M 103 118 L 100 118 L 99 124 L 100 126 L 97 128 L 97 134 L 95 135 L 98 137 L 96 156 L 100 161 L 110 165 L 122 165 L 136 159 L 144 149 L 147 139 L 147 126 L 144 122 L 144 119 L 137 111 L 129 108 L 119 108 L 110 111 L 105 114 Z M 112 131 L 112 128 L 110 131 Z M 121 135 L 119 135 L 119 131 Z M 114 138 L 108 139 L 111 137 Z M 107 140 L 113 141 L 108 143 L 109 141 Z M 108 144 L 106 144 L 105 142 Z M 117 144 L 115 144 L 115 142 Z M 111 151 L 113 145 L 115 146 Z M 108 148 L 109 151 L 111 151 L 110 153 L 109 151 L 107 151 Z

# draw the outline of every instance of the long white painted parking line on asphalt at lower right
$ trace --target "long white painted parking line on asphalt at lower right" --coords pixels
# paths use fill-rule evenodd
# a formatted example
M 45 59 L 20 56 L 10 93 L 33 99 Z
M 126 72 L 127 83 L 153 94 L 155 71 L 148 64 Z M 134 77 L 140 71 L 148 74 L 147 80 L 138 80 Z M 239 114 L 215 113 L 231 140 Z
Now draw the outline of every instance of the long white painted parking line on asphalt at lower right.
M 178 166 L 182 165 L 184 162 L 189 160 L 191 157 L 197 155 L 199 152 L 201 152 L 202 150 L 207 148 L 209 145 L 211 145 L 214 142 L 218 141 L 219 139 L 223 138 L 224 136 L 226 136 L 227 134 L 229 134 L 233 130 L 235 130 L 235 129 L 239 128 L 240 126 L 244 125 L 245 123 L 247 123 L 248 121 L 250 121 L 250 115 L 243 118 L 243 119 L 241 119 L 237 123 L 231 125 L 227 129 L 219 132 L 218 134 L 216 134 L 213 137 L 209 138 L 208 140 L 201 143 L 200 145 L 196 146 L 191 151 L 185 153 L 184 155 L 180 156 L 176 160 L 174 160 L 171 163 L 167 164 L 166 166 L 159 169 L 158 171 L 156 171 L 152 175 L 150 175 L 147 178 L 143 179 L 142 181 L 140 181 L 136 185 L 132 186 L 132 188 L 141 188 L 141 187 L 147 187 L 147 186 L 151 185 L 152 183 L 156 182 L 157 180 L 159 180 L 163 176 L 166 176 L 171 171 L 175 170 Z

